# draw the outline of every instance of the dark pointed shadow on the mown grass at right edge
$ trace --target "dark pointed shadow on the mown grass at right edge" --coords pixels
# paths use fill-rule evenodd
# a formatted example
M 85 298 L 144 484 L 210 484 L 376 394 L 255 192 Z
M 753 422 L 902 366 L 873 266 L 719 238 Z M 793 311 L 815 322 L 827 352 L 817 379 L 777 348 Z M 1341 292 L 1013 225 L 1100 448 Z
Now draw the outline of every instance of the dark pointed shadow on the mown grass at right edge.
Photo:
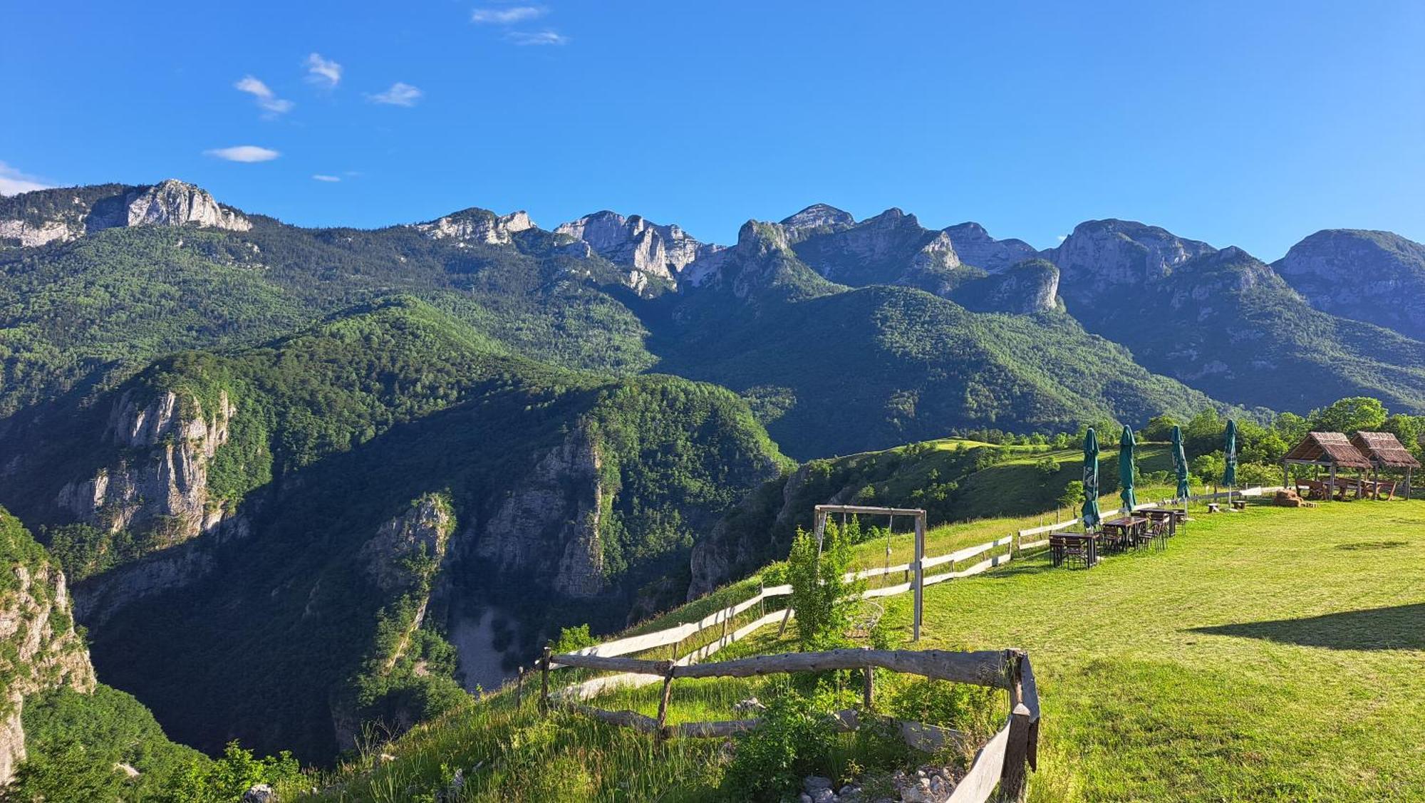
M 1425 602 L 1342 611 L 1302 619 L 1190 628 L 1190 632 L 1260 638 L 1328 649 L 1425 649 Z

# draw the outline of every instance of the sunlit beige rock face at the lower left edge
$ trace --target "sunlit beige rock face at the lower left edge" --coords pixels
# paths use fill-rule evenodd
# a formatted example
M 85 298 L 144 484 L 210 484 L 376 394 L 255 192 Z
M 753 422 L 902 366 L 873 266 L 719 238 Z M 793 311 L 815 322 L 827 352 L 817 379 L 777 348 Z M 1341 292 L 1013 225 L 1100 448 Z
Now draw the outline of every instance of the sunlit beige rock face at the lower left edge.
M 24 760 L 21 710 L 28 695 L 71 686 L 94 691 L 94 668 L 74 632 L 64 572 L 38 550 L 9 513 L 0 511 L 6 554 L 30 554 L 0 568 L 0 784 Z

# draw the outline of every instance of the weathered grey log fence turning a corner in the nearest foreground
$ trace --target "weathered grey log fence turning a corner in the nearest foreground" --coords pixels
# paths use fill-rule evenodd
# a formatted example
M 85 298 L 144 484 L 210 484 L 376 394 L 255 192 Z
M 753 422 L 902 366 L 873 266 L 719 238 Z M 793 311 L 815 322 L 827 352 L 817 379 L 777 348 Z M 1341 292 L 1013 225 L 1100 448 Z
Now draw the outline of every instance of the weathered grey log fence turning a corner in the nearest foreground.
M 825 652 L 788 652 L 779 655 L 757 655 L 715 663 L 680 663 L 675 661 L 646 661 L 640 658 L 601 656 L 590 654 L 553 655 L 546 649 L 539 662 L 542 669 L 540 706 L 549 710 L 550 669 L 554 666 L 580 666 L 584 669 L 614 669 L 624 673 L 638 673 L 663 681 L 663 696 L 658 700 L 657 719 L 633 710 L 604 710 L 566 702 L 573 710 L 586 713 L 611 725 L 634 728 L 658 738 L 703 738 L 731 736 L 757 728 L 758 719 L 732 719 L 721 722 L 687 722 L 668 725 L 668 703 L 673 696 L 673 682 L 678 678 L 751 678 L 791 672 L 825 672 L 831 669 L 859 669 L 865 678 L 862 709 L 838 712 L 831 726 L 839 730 L 855 729 L 862 716 L 875 716 L 872 699 L 872 669 L 882 668 L 938 681 L 976 683 L 1006 689 L 1009 692 L 1009 718 L 975 755 L 969 772 L 956 784 L 949 800 L 953 803 L 983 803 L 998 787 L 1002 799 L 1022 800 L 1026 789 L 1027 769 L 1037 769 L 1039 746 L 1039 688 L 1035 683 L 1029 656 L 1017 649 L 1002 652 L 950 652 L 942 649 L 829 649 Z M 556 696 L 557 700 L 557 696 Z M 963 733 L 919 722 L 891 718 L 888 720 L 913 747 L 935 750 L 949 742 L 963 745 Z

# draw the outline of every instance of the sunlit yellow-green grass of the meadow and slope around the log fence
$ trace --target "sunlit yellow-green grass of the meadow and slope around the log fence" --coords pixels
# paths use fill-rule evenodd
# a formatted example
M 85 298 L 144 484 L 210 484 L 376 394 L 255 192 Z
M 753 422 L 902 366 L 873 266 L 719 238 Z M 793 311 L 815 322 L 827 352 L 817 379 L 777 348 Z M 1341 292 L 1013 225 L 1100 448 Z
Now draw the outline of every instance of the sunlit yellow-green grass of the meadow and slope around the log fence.
M 1037 558 L 932 587 L 922 646 L 1029 649 L 1045 705 L 1035 800 L 1419 799 L 1422 532 L 1425 501 L 1200 515 L 1161 554 L 1089 572 Z M 888 622 L 905 638 L 909 597 L 889 599 Z M 764 631 L 735 652 L 788 646 Z M 670 719 L 721 716 L 760 691 L 705 686 L 675 691 Z M 720 755 L 712 740 L 540 722 L 507 698 L 390 750 L 326 799 L 393 800 L 398 784 L 432 789 L 442 763 L 449 776 L 479 760 L 470 800 L 714 796 Z

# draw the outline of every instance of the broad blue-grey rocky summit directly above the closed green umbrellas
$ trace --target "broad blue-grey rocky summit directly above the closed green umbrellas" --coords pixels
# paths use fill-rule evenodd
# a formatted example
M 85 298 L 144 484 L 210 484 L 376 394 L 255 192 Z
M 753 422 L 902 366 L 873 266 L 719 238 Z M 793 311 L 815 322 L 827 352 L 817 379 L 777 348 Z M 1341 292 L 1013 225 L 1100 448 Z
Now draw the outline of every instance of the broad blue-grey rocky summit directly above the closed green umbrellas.
M 1183 239 L 1167 229 L 1133 221 L 1087 221 L 1074 226 L 1059 248 L 1046 252 L 1060 271 L 1060 295 L 1087 305 L 1126 286 L 1163 279 L 1194 256 L 1217 249 Z

